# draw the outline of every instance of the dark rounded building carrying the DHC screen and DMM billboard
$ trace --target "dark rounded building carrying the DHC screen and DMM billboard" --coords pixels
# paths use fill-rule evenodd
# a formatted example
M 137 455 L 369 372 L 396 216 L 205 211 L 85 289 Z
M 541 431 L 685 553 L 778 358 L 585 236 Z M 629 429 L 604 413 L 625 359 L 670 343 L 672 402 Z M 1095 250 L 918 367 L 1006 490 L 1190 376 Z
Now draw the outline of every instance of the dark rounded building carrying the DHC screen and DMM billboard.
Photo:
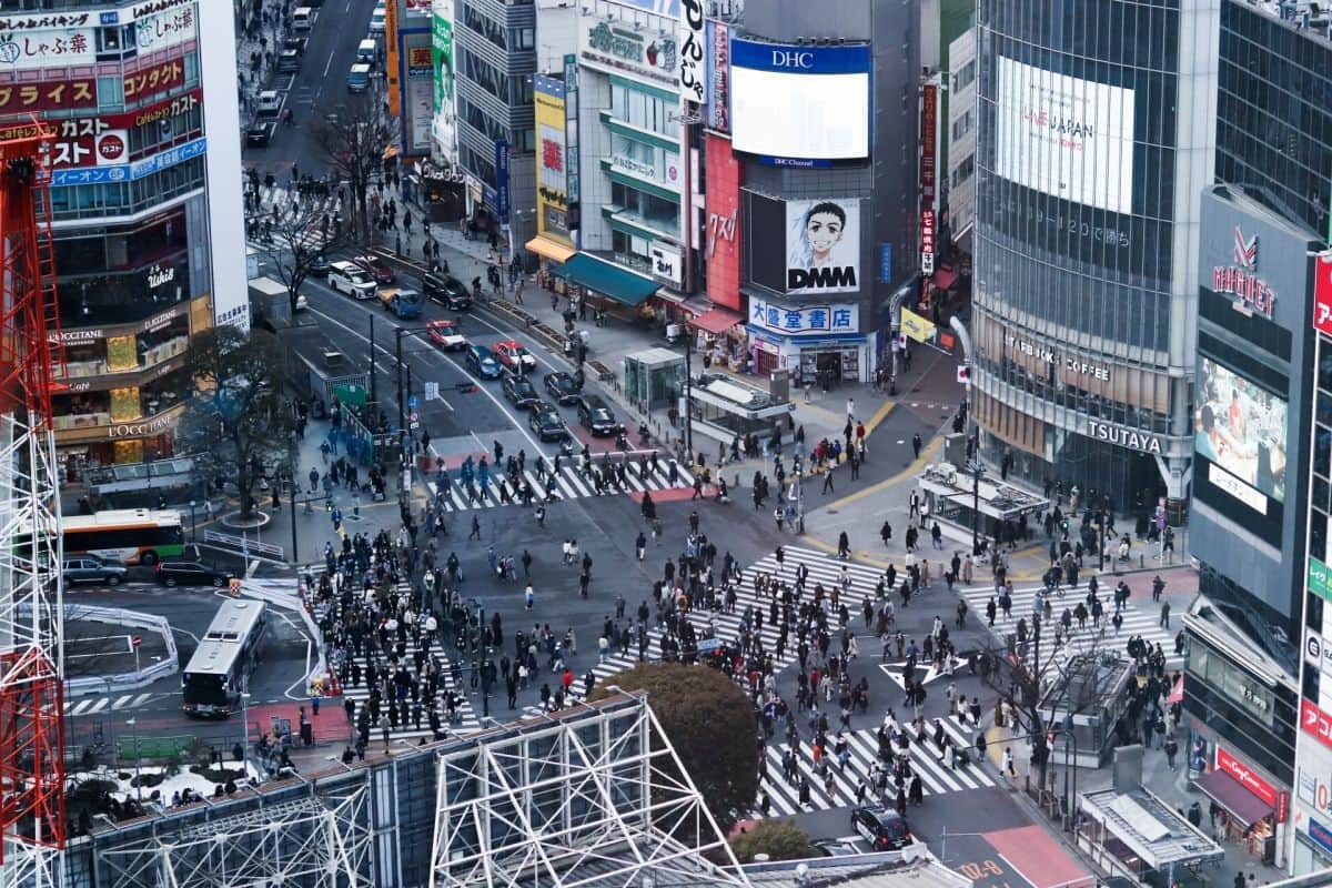
M 729 64 L 711 75 L 726 95 L 709 126 L 725 114 L 730 144 L 715 140 L 727 150 L 714 166 L 709 134 L 705 238 L 710 256 L 738 258 L 745 358 L 798 385 L 870 381 L 890 350 L 890 296 L 920 270 L 938 206 L 919 4 L 751 1 L 711 43 Z

